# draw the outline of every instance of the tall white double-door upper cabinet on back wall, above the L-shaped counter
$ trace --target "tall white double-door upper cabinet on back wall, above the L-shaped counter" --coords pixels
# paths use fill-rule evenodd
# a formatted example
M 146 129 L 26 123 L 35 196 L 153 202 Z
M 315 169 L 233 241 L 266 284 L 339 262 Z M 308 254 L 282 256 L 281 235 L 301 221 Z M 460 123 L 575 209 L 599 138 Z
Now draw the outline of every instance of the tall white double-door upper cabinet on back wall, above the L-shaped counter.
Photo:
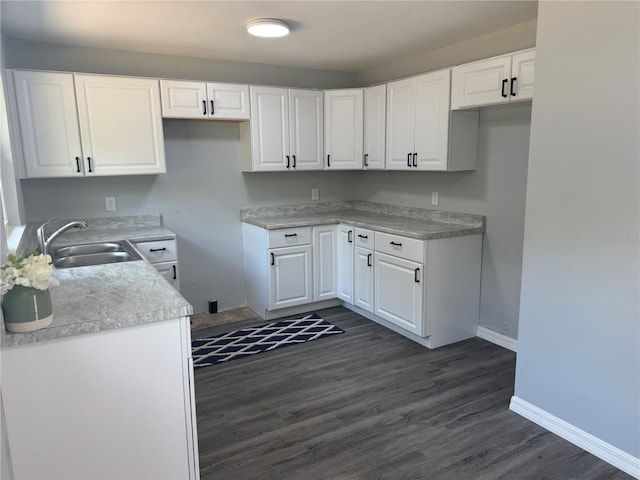
M 321 170 L 322 92 L 256 86 L 250 92 L 251 123 L 240 124 L 243 170 Z

